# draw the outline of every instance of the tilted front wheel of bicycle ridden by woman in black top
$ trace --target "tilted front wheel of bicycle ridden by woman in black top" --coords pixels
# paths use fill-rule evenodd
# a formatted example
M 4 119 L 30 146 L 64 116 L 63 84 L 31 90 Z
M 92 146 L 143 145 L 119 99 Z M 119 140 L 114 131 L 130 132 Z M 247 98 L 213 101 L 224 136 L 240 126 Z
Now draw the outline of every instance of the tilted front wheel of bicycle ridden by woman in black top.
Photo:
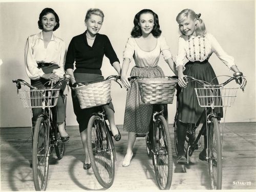
M 108 125 L 97 115 L 89 120 L 87 138 L 94 175 L 101 186 L 109 188 L 115 177 L 115 148 Z

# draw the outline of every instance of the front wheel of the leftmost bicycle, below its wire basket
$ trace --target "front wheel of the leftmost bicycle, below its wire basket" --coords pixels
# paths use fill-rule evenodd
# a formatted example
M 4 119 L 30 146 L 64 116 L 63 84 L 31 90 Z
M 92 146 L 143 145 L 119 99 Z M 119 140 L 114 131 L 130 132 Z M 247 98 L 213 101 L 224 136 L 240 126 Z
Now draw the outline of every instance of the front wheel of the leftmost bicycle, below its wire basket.
M 36 120 L 32 164 L 35 190 L 46 190 L 49 169 L 49 121 L 45 117 Z

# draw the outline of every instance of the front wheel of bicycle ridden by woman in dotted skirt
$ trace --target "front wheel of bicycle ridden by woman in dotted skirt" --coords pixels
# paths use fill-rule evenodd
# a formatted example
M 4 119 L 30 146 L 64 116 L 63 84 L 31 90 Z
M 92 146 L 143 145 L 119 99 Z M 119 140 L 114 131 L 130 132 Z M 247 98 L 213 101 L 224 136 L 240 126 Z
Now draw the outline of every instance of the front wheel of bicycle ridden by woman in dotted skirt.
M 167 122 L 162 115 L 154 123 L 153 162 L 157 184 L 160 189 L 168 190 L 173 179 L 172 142 Z

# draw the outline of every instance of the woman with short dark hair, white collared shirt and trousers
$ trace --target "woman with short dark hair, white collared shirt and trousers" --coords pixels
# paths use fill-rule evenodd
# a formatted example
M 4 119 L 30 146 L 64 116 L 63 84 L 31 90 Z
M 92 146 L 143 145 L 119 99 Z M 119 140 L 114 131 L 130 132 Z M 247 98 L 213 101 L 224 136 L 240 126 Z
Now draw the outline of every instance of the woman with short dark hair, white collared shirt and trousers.
M 42 87 L 49 80 L 54 84 L 65 73 L 63 68 L 66 54 L 65 42 L 53 34 L 58 27 L 58 15 L 53 9 L 45 8 L 41 11 L 38 20 L 38 28 L 42 31 L 30 35 L 27 39 L 25 67 L 31 79 L 31 85 L 34 87 Z M 57 88 L 61 88 L 57 101 L 58 130 L 61 140 L 67 142 L 69 135 L 65 131 L 66 105 L 63 99 L 66 84 L 62 82 L 62 85 Z M 41 108 L 33 108 L 32 112 L 32 127 L 34 128 Z

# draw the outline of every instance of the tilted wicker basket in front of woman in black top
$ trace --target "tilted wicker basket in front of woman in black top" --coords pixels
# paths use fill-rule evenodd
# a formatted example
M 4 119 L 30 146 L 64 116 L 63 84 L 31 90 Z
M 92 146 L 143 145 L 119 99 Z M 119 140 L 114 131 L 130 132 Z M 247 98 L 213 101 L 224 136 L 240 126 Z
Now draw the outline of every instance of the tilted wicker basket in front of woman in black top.
M 111 101 L 111 80 L 96 82 L 74 88 L 81 109 L 93 108 Z

